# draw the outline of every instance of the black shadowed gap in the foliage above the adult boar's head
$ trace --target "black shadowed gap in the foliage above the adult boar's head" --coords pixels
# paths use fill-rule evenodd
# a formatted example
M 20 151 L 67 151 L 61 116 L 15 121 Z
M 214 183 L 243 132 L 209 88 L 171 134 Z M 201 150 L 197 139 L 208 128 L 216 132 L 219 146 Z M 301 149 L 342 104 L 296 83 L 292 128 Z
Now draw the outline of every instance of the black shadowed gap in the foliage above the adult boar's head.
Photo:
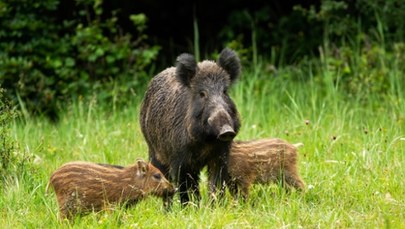
M 303 7 L 318 1 L 301 1 Z M 162 46 L 169 62 L 181 52 L 193 51 L 194 25 L 197 20 L 201 52 L 210 54 L 222 49 L 227 42 L 242 36 L 242 43 L 251 45 L 252 25 L 260 28 L 258 46 L 263 50 L 276 45 L 277 25 L 291 14 L 296 1 L 114 1 L 105 4 L 109 9 L 120 9 L 124 29 L 131 31 L 127 19 L 131 13 L 144 13 L 148 20 L 147 34 L 153 43 Z M 122 13 L 122 14 L 121 14 Z M 251 19 L 247 17 L 252 17 Z M 307 25 L 294 28 L 293 33 L 309 31 Z M 287 28 L 286 28 L 287 29 Z M 291 28 L 293 29 L 293 28 Z M 266 52 L 262 53 L 266 55 Z M 267 53 L 269 54 L 269 53 Z

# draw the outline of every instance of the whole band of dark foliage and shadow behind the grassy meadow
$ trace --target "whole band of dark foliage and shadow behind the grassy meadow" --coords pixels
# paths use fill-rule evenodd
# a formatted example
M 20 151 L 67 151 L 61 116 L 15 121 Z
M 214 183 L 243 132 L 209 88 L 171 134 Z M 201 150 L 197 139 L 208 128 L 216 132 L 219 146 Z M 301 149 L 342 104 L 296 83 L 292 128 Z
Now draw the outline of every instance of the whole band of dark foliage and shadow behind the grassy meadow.
M 403 53 L 402 18 L 400 0 L 0 0 L 0 87 L 27 113 L 57 120 L 89 96 L 125 104 L 180 53 L 212 59 L 230 47 L 245 69 L 321 60 L 342 68 L 349 94 L 364 82 L 384 93 L 384 71 L 354 70 Z

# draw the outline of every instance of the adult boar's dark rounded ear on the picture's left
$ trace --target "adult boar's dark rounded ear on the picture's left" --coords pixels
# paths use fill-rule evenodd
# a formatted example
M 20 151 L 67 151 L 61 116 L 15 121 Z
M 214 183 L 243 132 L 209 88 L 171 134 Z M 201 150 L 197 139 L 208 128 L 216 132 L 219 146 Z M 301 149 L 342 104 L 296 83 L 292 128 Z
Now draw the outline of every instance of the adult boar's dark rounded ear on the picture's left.
M 176 60 L 176 77 L 177 80 L 185 86 L 190 85 L 191 79 L 197 71 L 197 62 L 191 54 L 181 54 Z

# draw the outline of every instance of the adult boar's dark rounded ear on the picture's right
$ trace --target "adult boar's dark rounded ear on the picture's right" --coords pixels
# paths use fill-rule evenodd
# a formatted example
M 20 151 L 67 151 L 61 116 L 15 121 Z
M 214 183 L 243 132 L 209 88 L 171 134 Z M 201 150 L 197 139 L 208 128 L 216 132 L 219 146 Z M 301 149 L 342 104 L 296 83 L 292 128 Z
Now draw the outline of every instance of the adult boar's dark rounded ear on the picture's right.
M 240 60 L 234 51 L 225 48 L 219 54 L 218 64 L 226 72 L 228 72 L 231 77 L 231 82 L 234 82 L 240 74 Z

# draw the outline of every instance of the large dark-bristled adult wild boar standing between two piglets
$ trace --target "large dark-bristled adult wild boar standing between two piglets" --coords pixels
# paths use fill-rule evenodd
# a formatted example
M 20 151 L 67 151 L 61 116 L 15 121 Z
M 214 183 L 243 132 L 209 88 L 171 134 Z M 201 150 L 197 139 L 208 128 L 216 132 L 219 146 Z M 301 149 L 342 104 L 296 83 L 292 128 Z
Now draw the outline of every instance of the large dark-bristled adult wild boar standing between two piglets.
M 183 204 L 189 194 L 200 199 L 199 175 L 206 165 L 215 185 L 224 188 L 230 144 L 240 127 L 228 88 L 240 69 L 230 49 L 217 62 L 196 63 L 181 54 L 176 67 L 155 76 L 145 93 L 140 124 L 151 163 L 177 183 Z

